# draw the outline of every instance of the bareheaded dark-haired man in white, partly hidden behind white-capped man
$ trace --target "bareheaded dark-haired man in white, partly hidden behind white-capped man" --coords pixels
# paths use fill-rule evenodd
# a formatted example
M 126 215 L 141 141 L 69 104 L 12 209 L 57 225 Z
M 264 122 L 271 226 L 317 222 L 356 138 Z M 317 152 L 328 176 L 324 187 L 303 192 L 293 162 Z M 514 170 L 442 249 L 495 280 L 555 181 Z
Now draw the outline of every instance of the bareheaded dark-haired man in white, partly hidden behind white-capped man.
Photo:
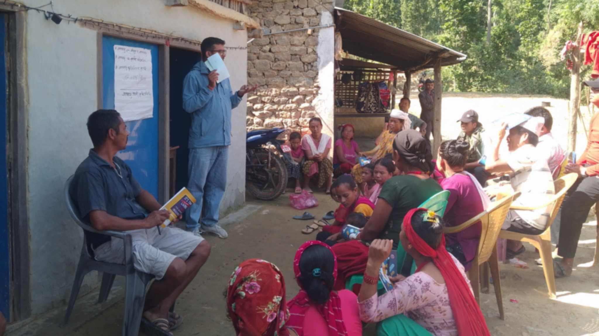
M 545 120 L 543 127 L 541 127 L 541 133 L 539 135 L 539 144 L 537 149 L 543 151 L 547 155 L 547 164 L 549 170 L 553 175 L 553 179 L 556 179 L 559 175 L 559 168 L 565 158 L 565 151 L 561 148 L 559 143 L 553 138 L 551 134 L 551 127 L 553 126 L 553 118 L 549 111 L 542 106 L 537 106 L 529 109 L 525 114 L 531 117 L 541 117 Z

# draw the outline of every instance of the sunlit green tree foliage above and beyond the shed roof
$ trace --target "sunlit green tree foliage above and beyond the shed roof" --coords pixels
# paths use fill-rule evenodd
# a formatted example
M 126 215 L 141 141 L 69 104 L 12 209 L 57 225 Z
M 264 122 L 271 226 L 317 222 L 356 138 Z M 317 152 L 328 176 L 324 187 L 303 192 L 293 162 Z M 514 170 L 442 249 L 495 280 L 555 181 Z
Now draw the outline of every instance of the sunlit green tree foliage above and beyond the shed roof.
M 599 30 L 599 0 L 492 0 L 489 45 L 487 2 L 346 0 L 345 7 L 467 54 L 443 68 L 446 90 L 567 97 L 570 73 L 559 51 L 579 22 L 585 32 Z M 583 76 L 588 71 L 583 66 Z

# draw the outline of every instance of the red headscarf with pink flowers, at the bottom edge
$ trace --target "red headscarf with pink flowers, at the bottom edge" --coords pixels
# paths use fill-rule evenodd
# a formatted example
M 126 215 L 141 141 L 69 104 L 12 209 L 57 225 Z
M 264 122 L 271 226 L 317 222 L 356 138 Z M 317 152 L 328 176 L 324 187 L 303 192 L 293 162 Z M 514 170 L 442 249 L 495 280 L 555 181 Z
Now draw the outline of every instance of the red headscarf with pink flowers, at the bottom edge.
M 237 336 L 289 336 L 285 280 L 271 262 L 241 262 L 231 274 L 226 306 Z

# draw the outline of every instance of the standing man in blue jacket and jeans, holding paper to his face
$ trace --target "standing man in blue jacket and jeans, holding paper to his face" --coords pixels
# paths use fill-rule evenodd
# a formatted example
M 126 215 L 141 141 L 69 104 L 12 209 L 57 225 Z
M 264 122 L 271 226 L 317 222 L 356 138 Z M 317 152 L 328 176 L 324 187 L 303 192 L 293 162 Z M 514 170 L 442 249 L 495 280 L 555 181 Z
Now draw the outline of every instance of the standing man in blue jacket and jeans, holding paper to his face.
M 208 70 L 204 63 L 208 57 L 218 53 L 225 59 L 225 41 L 205 38 L 201 48 L 202 60 L 183 80 L 183 109 L 192 114 L 187 189 L 196 199 L 187 211 L 186 226 L 196 236 L 208 233 L 225 239 L 228 234 L 218 222 L 231 145 L 231 109 L 239 105 L 244 94 L 256 87 L 243 85 L 233 93 L 228 78 L 217 83 L 219 74 Z

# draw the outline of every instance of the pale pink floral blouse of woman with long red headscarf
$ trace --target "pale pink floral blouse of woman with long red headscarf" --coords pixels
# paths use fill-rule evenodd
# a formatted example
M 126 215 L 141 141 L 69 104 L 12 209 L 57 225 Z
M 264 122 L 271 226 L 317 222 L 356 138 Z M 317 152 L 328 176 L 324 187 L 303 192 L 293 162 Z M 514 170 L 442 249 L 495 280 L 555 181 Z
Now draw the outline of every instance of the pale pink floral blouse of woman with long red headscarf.
M 453 256 L 452 259 L 470 285 L 464 267 Z M 360 318 L 364 322 L 379 322 L 391 316 L 405 314 L 434 336 L 458 335 L 449 306 L 447 286 L 435 282 L 432 277 L 423 272 L 412 274 L 405 280 L 395 283 L 391 292 L 380 297 L 374 294 L 359 303 L 359 308 Z

